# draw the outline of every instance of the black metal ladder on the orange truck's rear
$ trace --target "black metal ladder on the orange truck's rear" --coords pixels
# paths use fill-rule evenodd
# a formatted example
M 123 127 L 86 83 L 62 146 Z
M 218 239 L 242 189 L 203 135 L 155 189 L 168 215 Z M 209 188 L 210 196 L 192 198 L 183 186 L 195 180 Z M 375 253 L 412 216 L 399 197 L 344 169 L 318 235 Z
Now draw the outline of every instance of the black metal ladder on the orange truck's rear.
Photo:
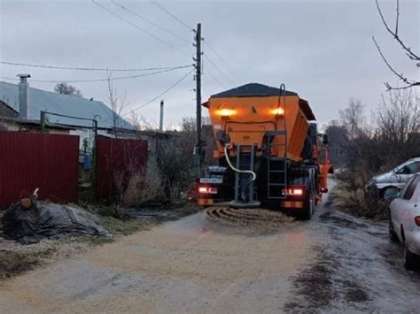
M 267 198 L 284 200 L 287 191 L 287 132 L 284 130 L 266 132 L 267 141 Z M 282 137 L 282 142 L 274 142 L 276 137 Z M 271 156 L 271 149 L 284 149 L 283 157 Z

